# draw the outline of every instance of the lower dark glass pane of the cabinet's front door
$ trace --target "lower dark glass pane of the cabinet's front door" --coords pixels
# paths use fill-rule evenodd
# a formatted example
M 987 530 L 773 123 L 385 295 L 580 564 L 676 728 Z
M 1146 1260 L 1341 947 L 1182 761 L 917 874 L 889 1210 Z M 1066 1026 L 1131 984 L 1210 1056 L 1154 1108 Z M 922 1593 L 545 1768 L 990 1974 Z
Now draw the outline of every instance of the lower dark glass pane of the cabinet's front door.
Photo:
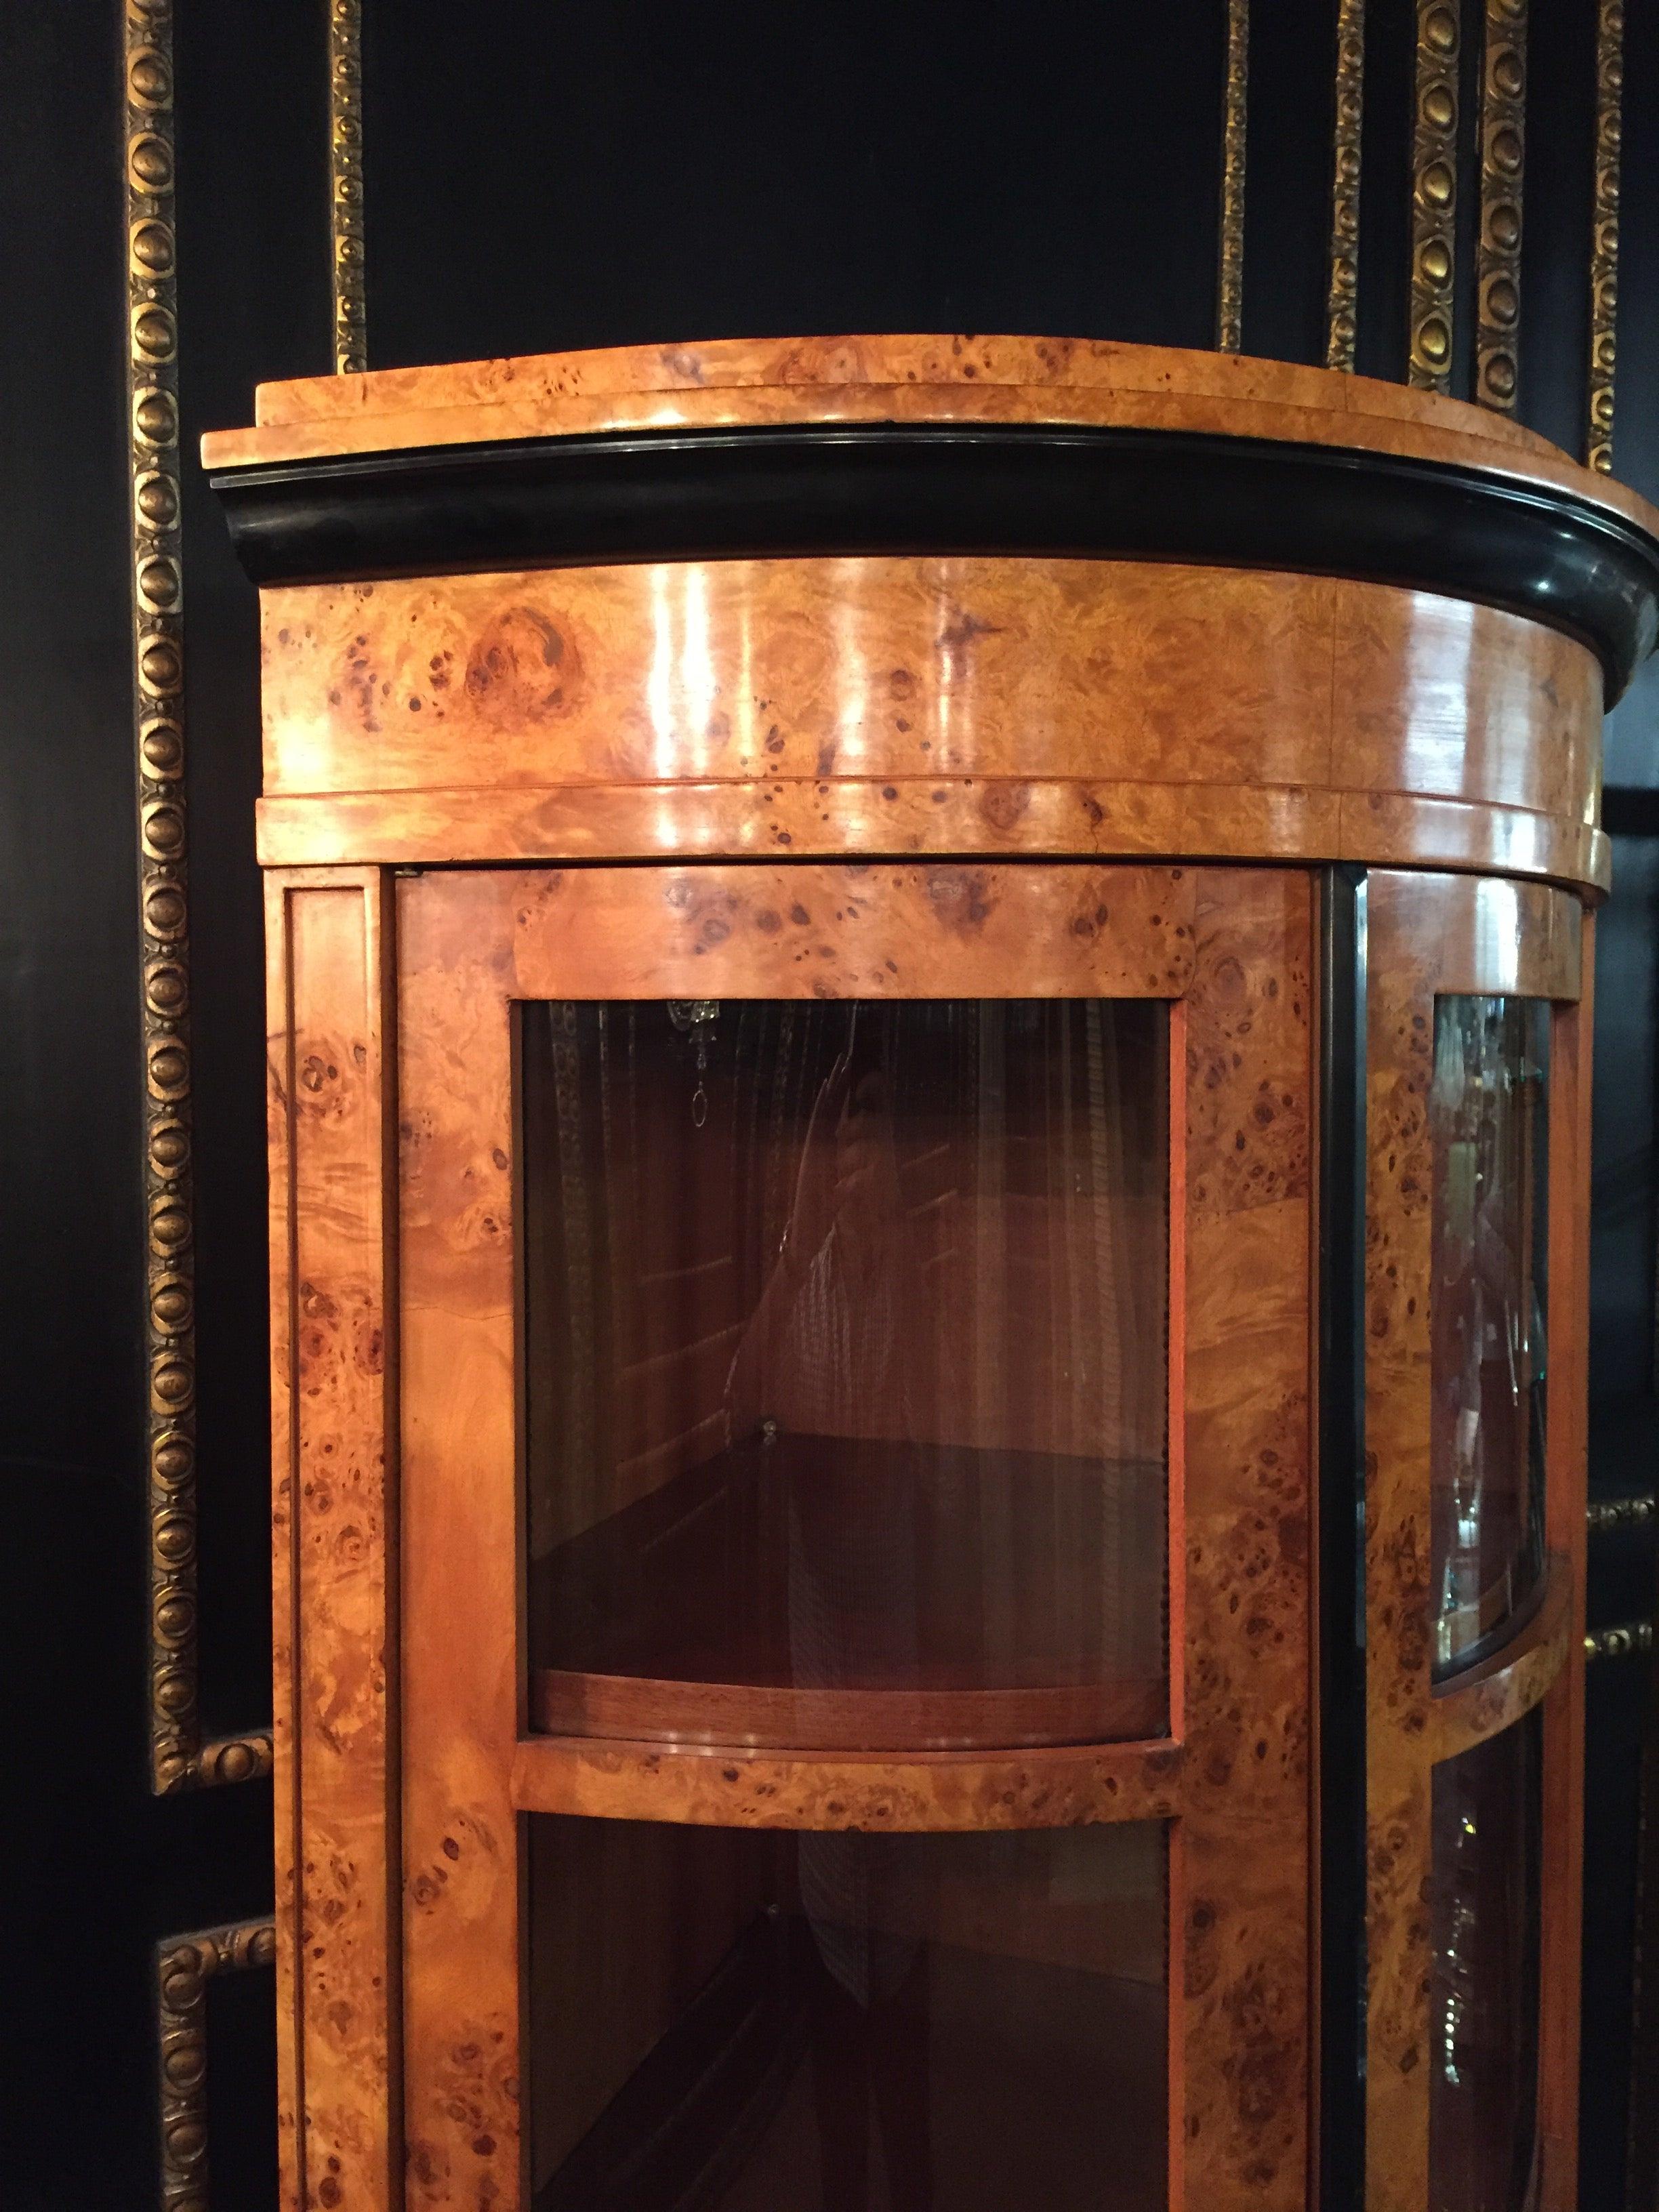
M 538 1814 L 535 2212 L 1164 2212 L 1164 1860 Z

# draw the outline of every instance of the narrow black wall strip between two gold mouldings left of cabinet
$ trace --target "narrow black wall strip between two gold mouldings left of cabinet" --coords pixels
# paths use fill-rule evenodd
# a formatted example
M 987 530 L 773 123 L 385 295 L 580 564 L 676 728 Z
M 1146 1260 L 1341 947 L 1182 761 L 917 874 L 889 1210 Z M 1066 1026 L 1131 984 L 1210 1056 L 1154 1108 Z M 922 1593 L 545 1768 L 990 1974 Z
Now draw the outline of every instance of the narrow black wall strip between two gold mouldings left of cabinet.
M 228 1732 L 270 1710 L 259 595 L 195 453 L 257 383 L 332 367 L 327 27 L 312 0 L 177 4 L 201 1674 Z

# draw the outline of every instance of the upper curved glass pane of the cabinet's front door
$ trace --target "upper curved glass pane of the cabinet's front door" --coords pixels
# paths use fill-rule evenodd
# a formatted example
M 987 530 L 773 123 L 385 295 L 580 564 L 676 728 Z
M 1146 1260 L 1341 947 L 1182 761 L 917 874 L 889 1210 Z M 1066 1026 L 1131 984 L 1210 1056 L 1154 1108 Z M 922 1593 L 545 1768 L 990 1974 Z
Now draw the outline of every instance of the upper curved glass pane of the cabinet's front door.
M 531 1004 L 520 1084 L 533 1723 L 1159 1734 L 1168 1009 Z

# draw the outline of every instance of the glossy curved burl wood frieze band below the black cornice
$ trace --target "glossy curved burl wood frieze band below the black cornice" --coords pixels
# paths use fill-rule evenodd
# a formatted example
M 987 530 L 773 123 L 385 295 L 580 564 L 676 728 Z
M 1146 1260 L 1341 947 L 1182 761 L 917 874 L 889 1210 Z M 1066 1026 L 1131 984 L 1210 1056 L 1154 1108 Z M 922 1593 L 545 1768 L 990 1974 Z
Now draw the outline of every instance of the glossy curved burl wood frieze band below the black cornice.
M 268 863 L 1427 860 L 1597 880 L 1601 672 L 1500 608 L 1150 562 L 684 562 L 263 595 Z

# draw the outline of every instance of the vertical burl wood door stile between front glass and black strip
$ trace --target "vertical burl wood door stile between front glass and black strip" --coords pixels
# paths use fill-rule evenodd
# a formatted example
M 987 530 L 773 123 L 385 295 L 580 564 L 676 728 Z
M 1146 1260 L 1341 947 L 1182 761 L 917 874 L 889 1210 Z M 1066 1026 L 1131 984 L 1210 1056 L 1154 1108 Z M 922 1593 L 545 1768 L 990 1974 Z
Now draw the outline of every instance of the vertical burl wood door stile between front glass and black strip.
M 1170 2199 L 1303 2205 L 1312 885 L 1199 876 L 1186 998 L 1186 2132 Z

